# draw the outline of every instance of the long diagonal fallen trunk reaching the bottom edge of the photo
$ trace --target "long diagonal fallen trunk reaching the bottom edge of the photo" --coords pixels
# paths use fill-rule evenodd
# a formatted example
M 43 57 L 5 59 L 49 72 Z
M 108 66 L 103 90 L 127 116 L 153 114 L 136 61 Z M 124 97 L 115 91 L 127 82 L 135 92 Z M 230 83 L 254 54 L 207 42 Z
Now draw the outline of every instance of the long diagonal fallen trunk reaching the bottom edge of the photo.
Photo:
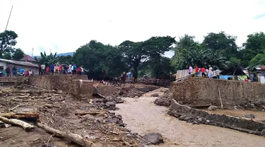
M 69 131 L 59 131 L 57 129 L 53 129 L 52 127 L 48 127 L 47 125 L 40 124 L 40 123 L 37 123 L 37 126 L 42 128 L 42 129 L 45 129 L 46 131 L 54 134 L 55 136 L 64 137 L 66 139 L 69 139 L 69 140 L 73 141 L 74 143 L 77 143 L 80 146 L 86 146 L 86 147 L 93 146 L 92 141 L 88 141 L 88 139 L 83 138 L 82 136 L 80 136 L 78 134 L 73 134 Z

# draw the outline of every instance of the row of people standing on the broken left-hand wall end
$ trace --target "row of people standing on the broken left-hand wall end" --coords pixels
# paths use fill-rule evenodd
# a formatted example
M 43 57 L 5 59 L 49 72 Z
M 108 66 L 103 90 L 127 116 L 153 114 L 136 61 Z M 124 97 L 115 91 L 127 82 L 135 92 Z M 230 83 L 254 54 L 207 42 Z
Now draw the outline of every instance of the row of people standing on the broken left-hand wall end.
M 83 66 L 76 66 L 76 64 L 52 64 L 51 66 L 46 66 L 45 64 L 39 65 L 39 75 L 54 75 L 54 74 L 78 74 L 83 75 Z

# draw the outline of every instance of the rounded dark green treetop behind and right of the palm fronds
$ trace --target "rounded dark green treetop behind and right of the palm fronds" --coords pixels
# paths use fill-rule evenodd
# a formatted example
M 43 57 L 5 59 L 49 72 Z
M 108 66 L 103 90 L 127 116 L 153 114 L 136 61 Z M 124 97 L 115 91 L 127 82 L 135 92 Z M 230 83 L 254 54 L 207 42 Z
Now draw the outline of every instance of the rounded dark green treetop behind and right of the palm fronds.
M 208 35 L 204 37 L 202 45 L 204 45 L 206 49 L 222 52 L 227 59 L 230 59 L 230 57 L 235 57 L 237 55 L 238 47 L 235 43 L 236 39 L 237 37 L 225 34 L 223 31 L 220 33 L 208 33 Z

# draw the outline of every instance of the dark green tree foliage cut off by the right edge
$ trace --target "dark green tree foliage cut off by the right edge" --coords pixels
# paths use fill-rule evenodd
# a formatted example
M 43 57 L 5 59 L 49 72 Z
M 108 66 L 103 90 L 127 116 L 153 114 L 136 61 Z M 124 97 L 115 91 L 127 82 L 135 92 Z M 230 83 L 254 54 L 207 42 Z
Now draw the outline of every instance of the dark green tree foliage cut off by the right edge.
M 247 41 L 243 44 L 243 49 L 240 50 L 240 59 L 244 66 L 249 65 L 249 61 L 257 54 L 263 54 L 265 48 L 265 33 L 253 33 L 247 35 Z

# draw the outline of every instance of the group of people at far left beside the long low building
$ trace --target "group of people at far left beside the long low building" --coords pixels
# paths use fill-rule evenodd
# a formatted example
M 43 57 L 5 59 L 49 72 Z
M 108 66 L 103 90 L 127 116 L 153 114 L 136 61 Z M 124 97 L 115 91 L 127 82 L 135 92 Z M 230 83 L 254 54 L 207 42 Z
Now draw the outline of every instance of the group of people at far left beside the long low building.
M 33 74 L 33 71 L 31 71 L 30 69 L 18 69 L 17 66 L 13 66 L 13 68 L 11 69 L 9 66 L 7 66 L 6 69 L 4 69 L 4 71 L 0 73 L 0 76 L 33 76 Z

